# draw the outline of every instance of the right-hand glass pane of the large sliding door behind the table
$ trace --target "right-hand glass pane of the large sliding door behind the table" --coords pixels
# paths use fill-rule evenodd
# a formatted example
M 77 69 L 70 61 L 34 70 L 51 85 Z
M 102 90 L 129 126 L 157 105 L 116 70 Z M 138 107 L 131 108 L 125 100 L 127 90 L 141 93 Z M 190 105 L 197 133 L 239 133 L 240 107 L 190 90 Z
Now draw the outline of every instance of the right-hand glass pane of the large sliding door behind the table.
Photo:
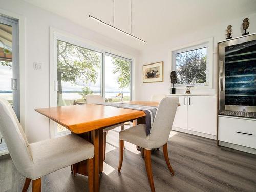
M 131 100 L 132 61 L 116 55 L 105 55 L 105 99 L 108 102 Z

